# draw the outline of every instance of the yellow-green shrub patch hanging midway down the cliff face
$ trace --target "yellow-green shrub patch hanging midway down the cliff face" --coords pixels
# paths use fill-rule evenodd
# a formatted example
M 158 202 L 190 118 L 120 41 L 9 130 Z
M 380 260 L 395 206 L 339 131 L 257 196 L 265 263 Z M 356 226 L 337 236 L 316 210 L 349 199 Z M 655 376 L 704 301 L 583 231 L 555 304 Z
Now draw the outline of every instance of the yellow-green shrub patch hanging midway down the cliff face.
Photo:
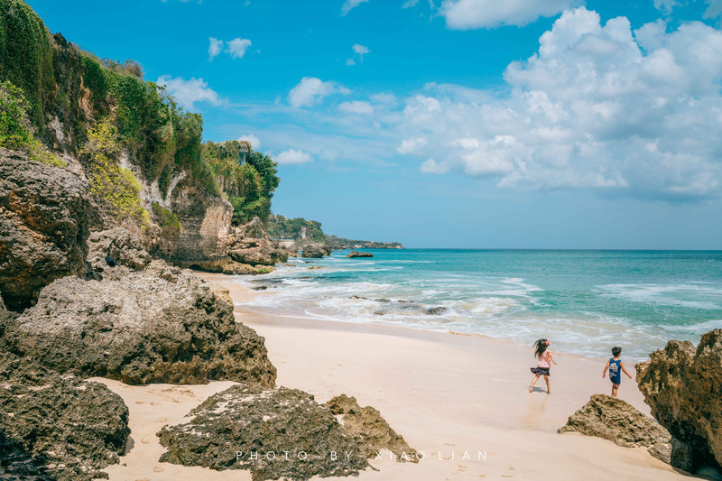
M 90 193 L 100 199 L 106 213 L 116 221 L 134 220 L 150 225 L 148 211 L 141 207 L 141 186 L 132 171 L 118 165 L 117 130 L 108 119 L 88 131 L 88 144 L 80 151 L 86 163 Z

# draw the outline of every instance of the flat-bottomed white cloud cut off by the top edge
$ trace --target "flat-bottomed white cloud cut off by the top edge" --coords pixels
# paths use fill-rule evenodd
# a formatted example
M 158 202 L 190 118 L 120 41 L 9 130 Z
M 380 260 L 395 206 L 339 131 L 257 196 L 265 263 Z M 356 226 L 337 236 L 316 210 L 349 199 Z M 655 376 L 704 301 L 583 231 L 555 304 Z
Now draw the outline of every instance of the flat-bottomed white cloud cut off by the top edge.
M 440 13 L 450 29 L 469 30 L 523 26 L 577 4 L 579 0 L 444 0 Z

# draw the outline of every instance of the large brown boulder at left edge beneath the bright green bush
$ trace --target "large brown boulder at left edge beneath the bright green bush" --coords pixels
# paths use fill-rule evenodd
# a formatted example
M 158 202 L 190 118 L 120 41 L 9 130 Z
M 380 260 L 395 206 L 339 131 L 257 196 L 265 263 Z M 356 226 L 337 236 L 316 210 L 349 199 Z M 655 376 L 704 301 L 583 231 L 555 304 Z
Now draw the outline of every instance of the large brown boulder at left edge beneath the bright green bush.
M 78 175 L 0 149 L 0 291 L 23 310 L 46 285 L 82 275 L 93 211 Z

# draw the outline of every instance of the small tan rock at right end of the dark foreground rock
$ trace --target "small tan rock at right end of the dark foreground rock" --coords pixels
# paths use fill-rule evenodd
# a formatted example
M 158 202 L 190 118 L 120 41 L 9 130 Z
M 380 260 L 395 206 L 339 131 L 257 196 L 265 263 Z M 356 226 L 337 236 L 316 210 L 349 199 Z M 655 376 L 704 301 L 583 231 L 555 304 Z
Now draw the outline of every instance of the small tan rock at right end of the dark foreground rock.
M 356 398 L 340 394 L 326 402 L 329 409 L 338 415 L 339 421 L 363 449 L 366 458 L 374 458 L 381 449 L 388 449 L 400 462 L 418 463 L 416 449 L 412 449 L 403 437 L 391 429 L 389 423 L 371 406 L 361 407 Z

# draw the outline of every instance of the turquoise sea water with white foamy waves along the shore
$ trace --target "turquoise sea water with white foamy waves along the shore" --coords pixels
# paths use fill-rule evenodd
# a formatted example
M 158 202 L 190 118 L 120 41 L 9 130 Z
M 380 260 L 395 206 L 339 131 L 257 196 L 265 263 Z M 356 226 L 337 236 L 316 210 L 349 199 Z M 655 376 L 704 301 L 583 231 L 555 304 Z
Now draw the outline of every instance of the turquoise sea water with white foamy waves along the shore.
M 375 250 L 246 282 L 265 311 L 477 333 L 560 352 L 646 357 L 669 339 L 722 328 L 722 251 Z M 320 266 L 321 269 L 310 269 Z M 433 308 L 443 308 L 432 310 Z

